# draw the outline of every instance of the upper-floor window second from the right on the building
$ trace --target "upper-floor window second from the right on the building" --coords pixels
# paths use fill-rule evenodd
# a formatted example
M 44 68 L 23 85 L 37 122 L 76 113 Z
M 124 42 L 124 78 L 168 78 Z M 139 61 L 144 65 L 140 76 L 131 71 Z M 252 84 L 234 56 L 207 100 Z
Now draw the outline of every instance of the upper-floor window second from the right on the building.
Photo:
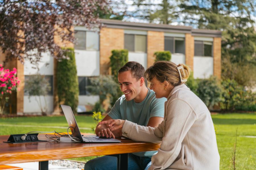
M 179 37 L 164 37 L 164 50 L 170 51 L 172 54 L 185 54 L 184 38 Z

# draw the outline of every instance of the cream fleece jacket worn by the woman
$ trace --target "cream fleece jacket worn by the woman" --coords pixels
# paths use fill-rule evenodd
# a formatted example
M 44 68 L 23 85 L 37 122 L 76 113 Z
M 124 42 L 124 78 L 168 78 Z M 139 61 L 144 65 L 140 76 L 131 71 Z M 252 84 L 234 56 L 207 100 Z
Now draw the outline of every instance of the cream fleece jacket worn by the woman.
M 161 143 L 152 156 L 153 169 L 218 170 L 220 156 L 207 107 L 185 84 L 174 87 L 164 105 L 158 127 L 125 120 L 123 136 L 134 141 Z

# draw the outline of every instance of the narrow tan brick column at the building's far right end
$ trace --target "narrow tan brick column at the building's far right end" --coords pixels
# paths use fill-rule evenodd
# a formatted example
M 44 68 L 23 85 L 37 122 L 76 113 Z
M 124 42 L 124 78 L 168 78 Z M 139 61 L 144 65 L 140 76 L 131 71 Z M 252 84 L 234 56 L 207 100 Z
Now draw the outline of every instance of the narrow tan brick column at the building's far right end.
M 221 37 L 213 39 L 213 75 L 221 77 Z

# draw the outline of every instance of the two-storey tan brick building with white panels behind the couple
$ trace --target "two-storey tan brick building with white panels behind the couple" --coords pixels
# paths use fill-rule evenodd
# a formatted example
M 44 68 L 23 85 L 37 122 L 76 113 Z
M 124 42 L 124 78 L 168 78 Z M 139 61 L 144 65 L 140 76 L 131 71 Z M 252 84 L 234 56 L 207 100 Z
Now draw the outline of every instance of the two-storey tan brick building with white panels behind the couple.
M 88 30 L 85 27 L 74 27 L 78 44 L 68 44 L 75 48 L 77 76 L 79 78 L 79 111 L 86 111 L 87 105 L 98 101 L 98 96 L 90 95 L 86 86 L 90 77 L 110 73 L 110 56 L 113 49 L 128 49 L 128 60 L 137 61 L 145 68 L 154 63 L 154 52 L 169 50 L 171 61 L 190 66 L 195 78 L 208 78 L 211 75 L 220 78 L 221 74 L 221 31 L 192 29 L 187 26 L 164 24 L 145 24 L 101 20 L 105 25 L 100 30 Z M 58 41 L 55 37 L 55 41 Z M 0 63 L 4 54 L 0 53 Z M 45 65 L 48 63 L 48 65 Z M 47 98 L 48 110 L 58 112 L 55 88 L 57 61 L 45 53 L 39 64 L 39 73 L 45 75 L 52 86 Z M 12 113 L 41 112 L 33 98 L 28 99 L 24 86 L 30 75 L 37 70 L 29 61 L 24 65 L 19 61 L 7 63 L 6 68 L 17 68 L 21 80 L 20 91 L 12 96 Z

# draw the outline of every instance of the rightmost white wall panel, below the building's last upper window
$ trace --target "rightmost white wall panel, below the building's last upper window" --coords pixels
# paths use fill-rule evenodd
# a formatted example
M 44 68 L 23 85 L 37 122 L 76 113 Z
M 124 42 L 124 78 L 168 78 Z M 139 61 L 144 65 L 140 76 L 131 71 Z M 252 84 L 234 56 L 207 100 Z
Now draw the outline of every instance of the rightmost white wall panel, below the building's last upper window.
M 194 78 L 208 78 L 213 75 L 213 57 L 194 57 Z

